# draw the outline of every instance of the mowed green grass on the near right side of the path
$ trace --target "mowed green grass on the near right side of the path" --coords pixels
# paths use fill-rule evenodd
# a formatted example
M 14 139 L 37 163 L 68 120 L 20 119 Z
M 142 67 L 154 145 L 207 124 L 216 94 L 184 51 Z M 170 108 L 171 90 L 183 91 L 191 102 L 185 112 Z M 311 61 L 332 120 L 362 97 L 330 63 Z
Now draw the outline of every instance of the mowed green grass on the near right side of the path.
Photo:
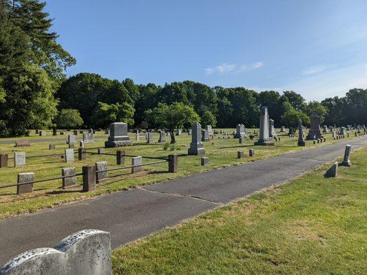
M 112 253 L 114 274 L 366 274 L 367 148 Z

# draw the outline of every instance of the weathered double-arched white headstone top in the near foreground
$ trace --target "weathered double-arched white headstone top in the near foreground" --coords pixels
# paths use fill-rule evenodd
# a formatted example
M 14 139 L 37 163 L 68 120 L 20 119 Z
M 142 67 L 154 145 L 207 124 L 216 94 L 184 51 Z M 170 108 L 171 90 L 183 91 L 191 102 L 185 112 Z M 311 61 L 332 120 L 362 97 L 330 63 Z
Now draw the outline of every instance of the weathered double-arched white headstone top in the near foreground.
M 54 248 L 28 250 L 0 268 L 3 275 L 111 275 L 108 232 L 87 229 L 67 236 Z

